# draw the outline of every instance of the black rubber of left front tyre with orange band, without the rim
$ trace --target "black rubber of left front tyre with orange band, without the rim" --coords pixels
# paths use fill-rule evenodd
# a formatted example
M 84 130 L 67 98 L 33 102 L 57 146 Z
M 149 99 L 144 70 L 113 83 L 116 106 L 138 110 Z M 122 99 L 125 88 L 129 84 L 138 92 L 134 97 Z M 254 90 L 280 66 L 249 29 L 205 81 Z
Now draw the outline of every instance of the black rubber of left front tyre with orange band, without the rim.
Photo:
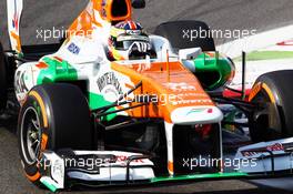
M 19 150 L 27 176 L 38 182 L 38 162 L 29 164 L 22 153 L 22 116 L 29 108 L 38 109 L 41 126 L 41 154 L 44 150 L 92 150 L 93 137 L 88 102 L 82 92 L 70 84 L 44 84 L 34 86 L 28 94 L 19 114 Z M 43 161 L 42 161 L 43 162 Z

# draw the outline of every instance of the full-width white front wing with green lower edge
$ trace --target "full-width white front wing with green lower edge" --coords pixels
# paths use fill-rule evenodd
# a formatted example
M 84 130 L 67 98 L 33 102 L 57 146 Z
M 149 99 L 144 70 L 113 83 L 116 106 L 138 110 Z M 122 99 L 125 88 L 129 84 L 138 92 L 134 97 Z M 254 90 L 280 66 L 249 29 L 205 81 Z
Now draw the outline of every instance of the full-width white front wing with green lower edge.
M 234 159 L 255 160 L 255 167 L 224 169 L 211 174 L 155 176 L 151 156 L 121 151 L 46 151 L 39 161 L 41 183 L 55 192 L 72 185 L 113 186 L 194 182 L 223 178 L 274 177 L 279 173 L 292 175 L 293 139 L 262 142 L 242 146 Z M 225 157 L 225 155 L 224 155 Z M 285 172 L 285 174 L 284 174 Z

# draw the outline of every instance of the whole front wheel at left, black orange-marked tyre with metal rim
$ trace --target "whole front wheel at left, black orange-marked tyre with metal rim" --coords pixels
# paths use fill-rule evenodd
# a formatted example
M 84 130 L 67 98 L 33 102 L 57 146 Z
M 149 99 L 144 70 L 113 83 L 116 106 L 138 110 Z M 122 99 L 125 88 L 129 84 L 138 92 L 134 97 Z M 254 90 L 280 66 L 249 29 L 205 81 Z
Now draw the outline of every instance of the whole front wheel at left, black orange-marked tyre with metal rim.
M 34 86 L 20 110 L 18 140 L 24 173 L 39 186 L 38 160 L 44 150 L 92 150 L 90 111 L 80 89 L 65 83 Z

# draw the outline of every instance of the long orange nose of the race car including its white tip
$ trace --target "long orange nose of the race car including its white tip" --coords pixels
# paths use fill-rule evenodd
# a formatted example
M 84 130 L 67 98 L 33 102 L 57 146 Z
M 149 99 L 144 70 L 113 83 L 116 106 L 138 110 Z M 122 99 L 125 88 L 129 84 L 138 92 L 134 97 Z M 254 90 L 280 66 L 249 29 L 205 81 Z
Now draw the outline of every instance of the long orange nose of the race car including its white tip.
M 131 65 L 113 62 L 111 68 L 129 76 L 133 83 L 142 81 L 142 90 L 134 94 L 156 96 L 156 103 L 150 103 L 144 110 L 131 110 L 131 116 L 161 118 L 173 124 L 209 124 L 223 119 L 199 80 L 178 61 Z

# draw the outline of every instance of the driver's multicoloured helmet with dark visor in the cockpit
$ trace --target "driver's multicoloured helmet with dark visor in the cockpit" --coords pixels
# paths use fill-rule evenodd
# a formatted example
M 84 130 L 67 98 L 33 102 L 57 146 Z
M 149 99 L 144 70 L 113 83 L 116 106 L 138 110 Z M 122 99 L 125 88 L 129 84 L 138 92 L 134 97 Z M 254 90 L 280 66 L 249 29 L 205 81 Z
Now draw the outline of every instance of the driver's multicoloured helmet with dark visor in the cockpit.
M 111 27 L 109 55 L 112 60 L 145 59 L 150 50 L 150 39 L 140 23 L 127 20 Z

